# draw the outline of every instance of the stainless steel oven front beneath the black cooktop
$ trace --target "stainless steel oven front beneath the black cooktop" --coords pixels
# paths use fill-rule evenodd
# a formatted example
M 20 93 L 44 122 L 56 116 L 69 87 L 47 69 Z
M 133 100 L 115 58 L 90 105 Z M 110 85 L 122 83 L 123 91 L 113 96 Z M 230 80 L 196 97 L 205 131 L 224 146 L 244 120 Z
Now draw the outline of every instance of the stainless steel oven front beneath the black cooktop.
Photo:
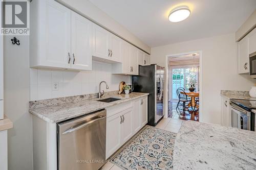
M 251 112 L 230 102 L 231 108 L 231 127 L 251 130 Z

